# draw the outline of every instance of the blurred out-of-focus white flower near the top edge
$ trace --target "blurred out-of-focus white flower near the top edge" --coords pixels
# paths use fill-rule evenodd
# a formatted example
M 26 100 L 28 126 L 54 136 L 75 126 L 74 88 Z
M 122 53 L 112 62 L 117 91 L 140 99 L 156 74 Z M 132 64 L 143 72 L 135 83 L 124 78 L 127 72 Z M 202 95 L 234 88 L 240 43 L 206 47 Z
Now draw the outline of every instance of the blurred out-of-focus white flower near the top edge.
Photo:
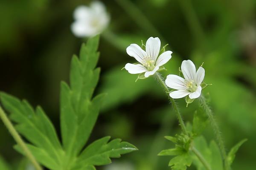
M 104 31 L 110 21 L 105 5 L 99 1 L 93 1 L 90 6 L 78 6 L 74 18 L 71 30 L 77 37 L 93 37 Z

